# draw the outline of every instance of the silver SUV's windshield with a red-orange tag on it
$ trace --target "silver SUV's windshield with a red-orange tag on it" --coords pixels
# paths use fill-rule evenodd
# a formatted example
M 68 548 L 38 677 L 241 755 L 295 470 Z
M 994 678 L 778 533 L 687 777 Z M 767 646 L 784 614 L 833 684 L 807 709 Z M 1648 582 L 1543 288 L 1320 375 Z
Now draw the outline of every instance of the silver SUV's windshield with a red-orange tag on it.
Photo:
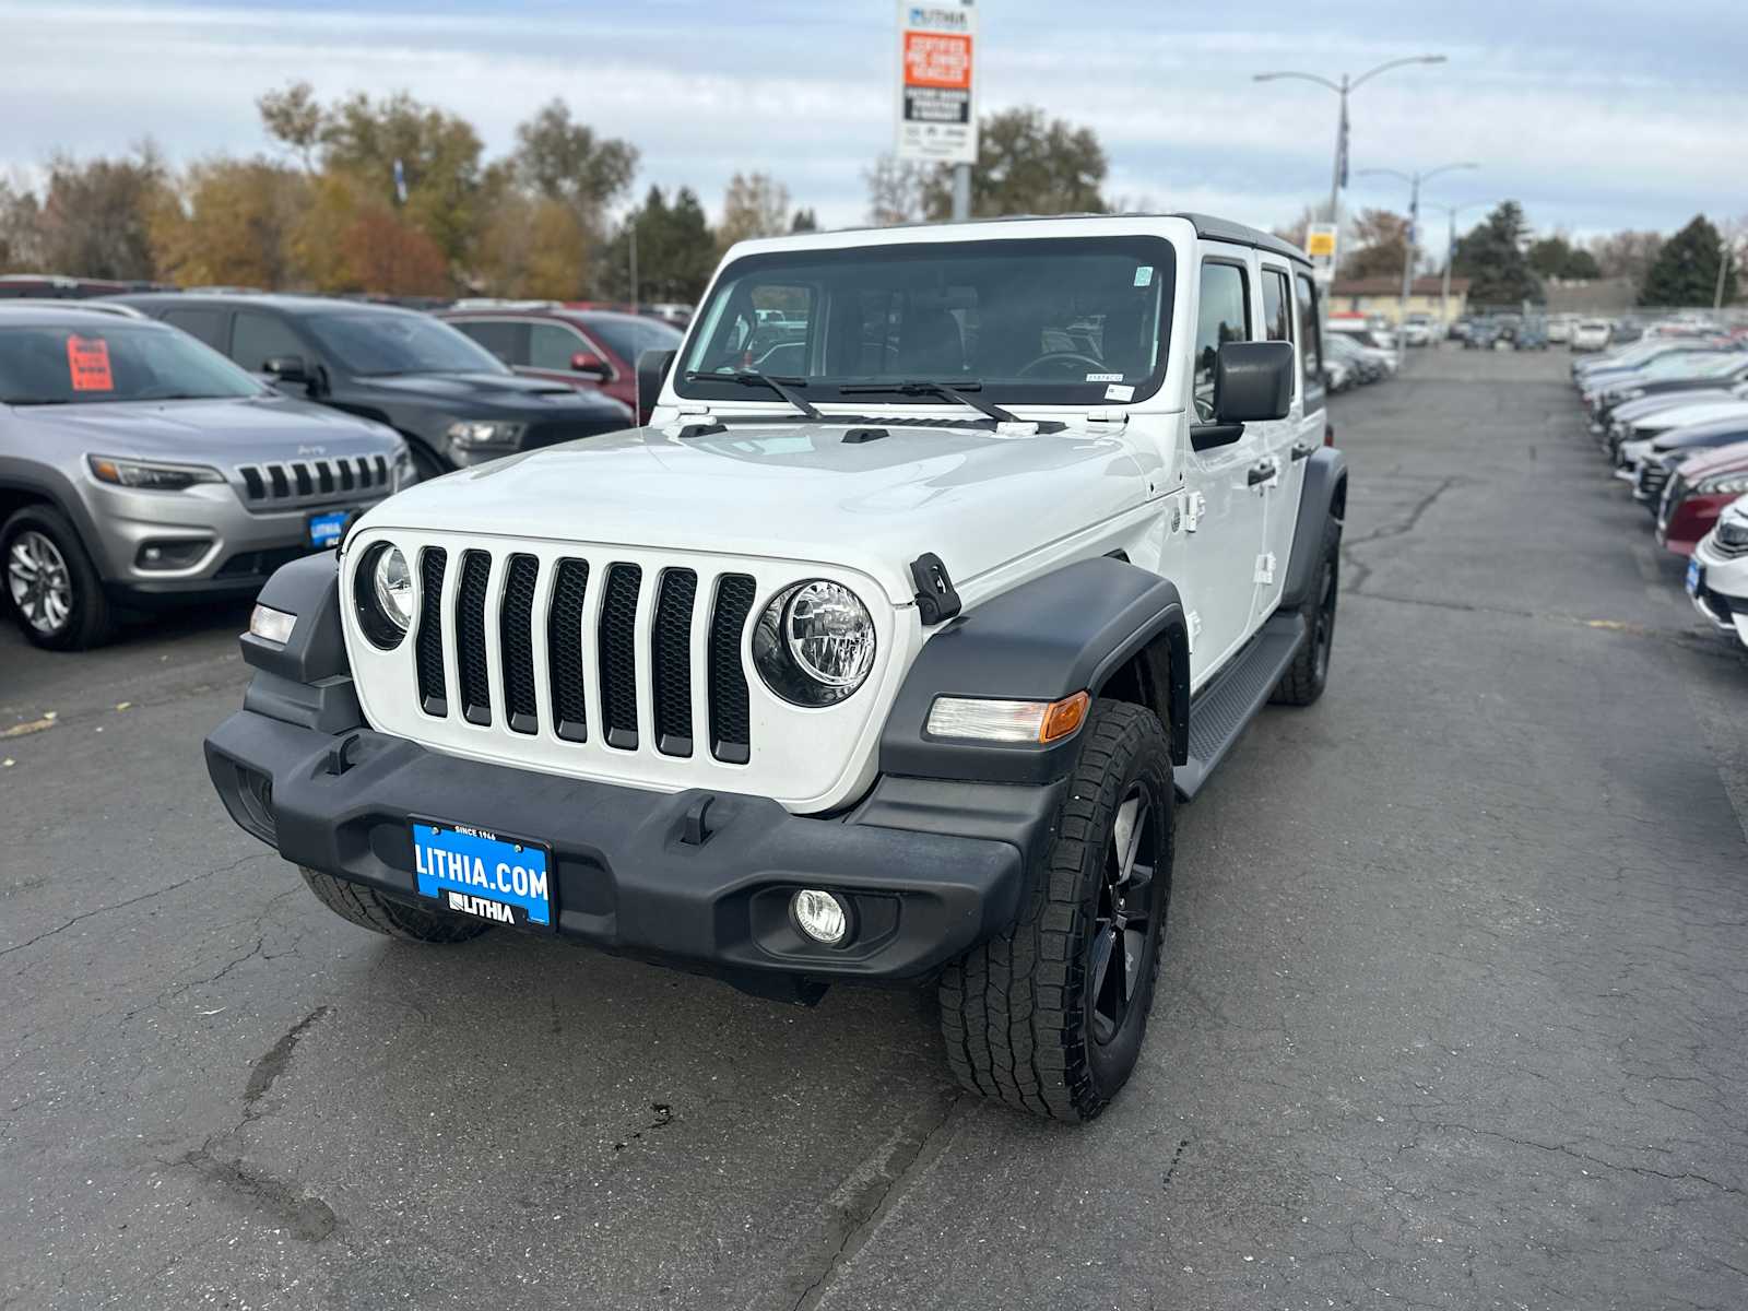
M 87 316 L 72 327 L 0 327 L 0 402 L 259 397 L 259 381 L 185 332 Z

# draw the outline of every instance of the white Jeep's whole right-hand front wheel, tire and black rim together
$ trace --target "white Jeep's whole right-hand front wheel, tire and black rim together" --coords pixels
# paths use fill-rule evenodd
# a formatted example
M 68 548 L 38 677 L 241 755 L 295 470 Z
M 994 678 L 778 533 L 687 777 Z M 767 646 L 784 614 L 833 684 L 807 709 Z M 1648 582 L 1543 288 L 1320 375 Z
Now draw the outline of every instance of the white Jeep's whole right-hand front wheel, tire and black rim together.
M 940 1033 L 972 1092 L 1094 1119 L 1134 1072 L 1171 904 L 1171 750 L 1154 711 L 1098 701 L 1019 921 L 947 967 Z

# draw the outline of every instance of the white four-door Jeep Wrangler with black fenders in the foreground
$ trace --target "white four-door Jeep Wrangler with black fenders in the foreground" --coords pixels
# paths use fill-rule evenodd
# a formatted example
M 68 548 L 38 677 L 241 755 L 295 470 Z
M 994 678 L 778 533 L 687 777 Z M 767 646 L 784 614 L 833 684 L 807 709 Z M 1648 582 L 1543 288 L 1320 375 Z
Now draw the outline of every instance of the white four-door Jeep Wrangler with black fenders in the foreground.
M 650 425 L 404 491 L 260 596 L 232 818 L 393 937 L 816 1000 L 1096 1115 L 1173 804 L 1323 690 L 1346 502 L 1304 257 L 1201 215 L 750 241 Z M 656 395 L 649 392 L 647 395 Z

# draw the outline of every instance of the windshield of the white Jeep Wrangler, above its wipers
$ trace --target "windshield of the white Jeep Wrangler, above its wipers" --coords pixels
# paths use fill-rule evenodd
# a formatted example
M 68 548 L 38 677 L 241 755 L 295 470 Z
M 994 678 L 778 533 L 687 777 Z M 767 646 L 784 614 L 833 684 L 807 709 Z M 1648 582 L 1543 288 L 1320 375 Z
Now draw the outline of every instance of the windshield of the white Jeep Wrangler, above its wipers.
M 815 404 L 902 381 L 981 383 L 996 404 L 1141 400 L 1164 376 L 1171 285 L 1171 243 L 1143 236 L 748 255 L 704 302 L 675 386 L 743 399 L 708 374 L 757 371 L 804 379 Z

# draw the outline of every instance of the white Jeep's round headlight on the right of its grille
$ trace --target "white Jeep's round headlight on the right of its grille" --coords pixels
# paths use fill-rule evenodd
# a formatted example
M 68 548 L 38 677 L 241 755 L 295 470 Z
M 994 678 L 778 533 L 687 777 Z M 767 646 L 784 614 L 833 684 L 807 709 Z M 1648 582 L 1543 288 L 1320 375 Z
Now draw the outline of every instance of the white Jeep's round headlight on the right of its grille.
M 827 579 L 797 582 L 759 615 L 753 662 L 766 687 L 797 706 L 829 706 L 874 668 L 874 619 L 853 591 Z

